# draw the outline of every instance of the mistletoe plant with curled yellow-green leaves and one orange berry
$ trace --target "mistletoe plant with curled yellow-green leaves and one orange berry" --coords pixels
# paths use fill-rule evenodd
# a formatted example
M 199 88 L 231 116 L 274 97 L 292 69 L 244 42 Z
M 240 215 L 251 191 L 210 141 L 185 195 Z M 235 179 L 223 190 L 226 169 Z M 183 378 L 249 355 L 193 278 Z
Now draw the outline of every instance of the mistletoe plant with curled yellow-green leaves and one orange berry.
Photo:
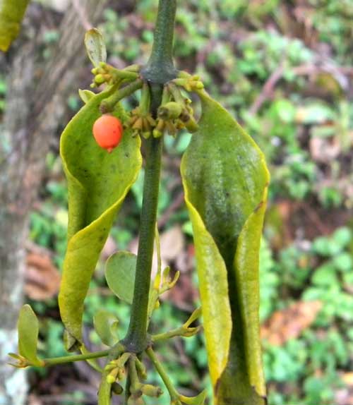
M 113 394 L 123 392 L 124 403 L 129 405 L 143 404 L 146 395 L 162 394 L 160 387 L 144 382 L 148 377 L 144 359 L 148 356 L 169 392 L 171 404 L 205 403 L 205 392 L 197 397 L 179 394 L 155 354 L 163 339 L 196 334 L 200 327 L 193 322 L 201 316 L 201 308 L 176 330 L 155 335 L 148 330 L 160 295 L 178 278 L 177 274 L 170 279 L 169 268 L 161 267 L 156 225 L 163 139 L 186 128 L 193 136 L 181 162 L 181 178 L 193 226 L 213 403 L 263 405 L 258 251 L 268 170 L 257 145 L 205 92 L 200 78 L 174 67 L 175 12 L 176 0 L 160 0 L 152 54 L 145 66 L 114 68 L 106 63 L 100 32 L 90 30 L 85 37 L 95 66 L 92 87 L 104 85 L 104 90 L 99 94 L 80 90 L 85 106 L 61 135 L 69 219 L 59 308 L 66 348 L 79 353 L 38 358 L 38 321 L 26 305 L 18 321 L 19 354 L 11 356 L 17 359 L 18 367 L 88 361 L 102 373 L 100 405 L 110 404 Z M 126 111 L 121 99 L 138 90 L 139 106 Z M 193 114 L 190 93 L 201 100 L 199 120 Z M 82 338 L 85 296 L 114 218 L 141 169 L 141 143 L 145 183 L 138 254 L 118 251 L 105 267 L 109 288 L 131 304 L 130 325 L 126 336 L 119 339 L 118 320 L 100 310 L 94 318 L 95 330 L 108 349 L 91 353 Z M 154 244 L 158 268 L 151 282 Z M 103 369 L 95 361 L 101 357 L 107 358 Z

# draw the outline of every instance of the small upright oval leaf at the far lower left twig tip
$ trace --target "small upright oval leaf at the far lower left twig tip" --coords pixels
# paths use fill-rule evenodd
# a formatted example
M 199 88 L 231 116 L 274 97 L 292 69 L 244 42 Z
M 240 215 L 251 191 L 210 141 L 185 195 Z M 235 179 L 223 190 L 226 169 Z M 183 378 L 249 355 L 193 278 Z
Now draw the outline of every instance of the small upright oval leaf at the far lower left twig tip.
M 37 358 L 39 324 L 37 316 L 28 304 L 20 309 L 18 316 L 18 351 L 33 365 L 42 365 Z

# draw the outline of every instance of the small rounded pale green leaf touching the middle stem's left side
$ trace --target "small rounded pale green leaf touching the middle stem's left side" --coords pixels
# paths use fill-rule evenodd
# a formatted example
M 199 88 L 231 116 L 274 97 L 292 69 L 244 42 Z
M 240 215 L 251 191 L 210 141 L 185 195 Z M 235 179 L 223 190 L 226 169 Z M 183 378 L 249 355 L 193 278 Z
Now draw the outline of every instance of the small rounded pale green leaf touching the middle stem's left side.
M 121 250 L 120 252 L 113 253 L 105 265 L 105 279 L 107 280 L 109 289 L 118 298 L 129 304 L 133 301 L 136 260 L 136 255 Z

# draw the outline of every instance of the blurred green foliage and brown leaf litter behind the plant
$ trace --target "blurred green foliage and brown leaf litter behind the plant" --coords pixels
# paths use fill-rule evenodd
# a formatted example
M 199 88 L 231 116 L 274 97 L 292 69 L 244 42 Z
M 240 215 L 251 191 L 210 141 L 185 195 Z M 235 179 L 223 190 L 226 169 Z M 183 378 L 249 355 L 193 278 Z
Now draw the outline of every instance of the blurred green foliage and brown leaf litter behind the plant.
M 38 2 L 47 24 L 42 57 L 59 40 L 64 1 Z M 263 360 L 270 405 L 353 404 L 353 3 L 350 0 L 179 0 L 177 66 L 199 73 L 261 146 L 272 180 L 261 246 Z M 109 62 L 145 63 L 157 0 L 110 1 L 100 29 Z M 88 87 L 90 65 L 78 87 Z M 0 120 L 6 84 L 0 76 Z M 136 99 L 129 101 L 136 105 Z M 76 89 L 67 120 L 80 108 Z M 63 127 L 65 122 L 63 122 Z M 56 294 L 66 248 L 67 192 L 59 133 L 30 216 L 26 294 L 40 315 L 42 356 L 62 356 Z M 179 164 L 191 135 L 165 140 L 160 191 L 162 260 L 181 279 L 155 312 L 152 330 L 177 327 L 198 305 L 192 231 Z M 212 159 L 212 157 L 210 157 Z M 104 260 L 136 250 L 143 172 L 102 253 L 86 300 L 85 340 L 100 349 L 92 317 L 129 308 L 104 282 Z M 220 310 L 220 315 L 222 311 Z M 209 387 L 203 337 L 158 352 L 184 394 Z M 32 370 L 33 404 L 95 404 L 97 375 L 85 364 Z M 157 381 L 157 375 L 153 375 Z M 116 402 L 118 403 L 118 402 Z M 167 395 L 161 404 L 168 404 Z

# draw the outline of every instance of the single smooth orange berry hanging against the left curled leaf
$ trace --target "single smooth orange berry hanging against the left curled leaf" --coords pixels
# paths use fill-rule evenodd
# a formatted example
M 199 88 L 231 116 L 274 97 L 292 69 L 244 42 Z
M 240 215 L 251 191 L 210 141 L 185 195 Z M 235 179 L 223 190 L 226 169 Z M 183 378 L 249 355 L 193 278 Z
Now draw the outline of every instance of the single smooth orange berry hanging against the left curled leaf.
M 115 116 L 104 114 L 93 124 L 93 136 L 100 147 L 107 149 L 110 153 L 118 146 L 123 136 L 121 121 Z

